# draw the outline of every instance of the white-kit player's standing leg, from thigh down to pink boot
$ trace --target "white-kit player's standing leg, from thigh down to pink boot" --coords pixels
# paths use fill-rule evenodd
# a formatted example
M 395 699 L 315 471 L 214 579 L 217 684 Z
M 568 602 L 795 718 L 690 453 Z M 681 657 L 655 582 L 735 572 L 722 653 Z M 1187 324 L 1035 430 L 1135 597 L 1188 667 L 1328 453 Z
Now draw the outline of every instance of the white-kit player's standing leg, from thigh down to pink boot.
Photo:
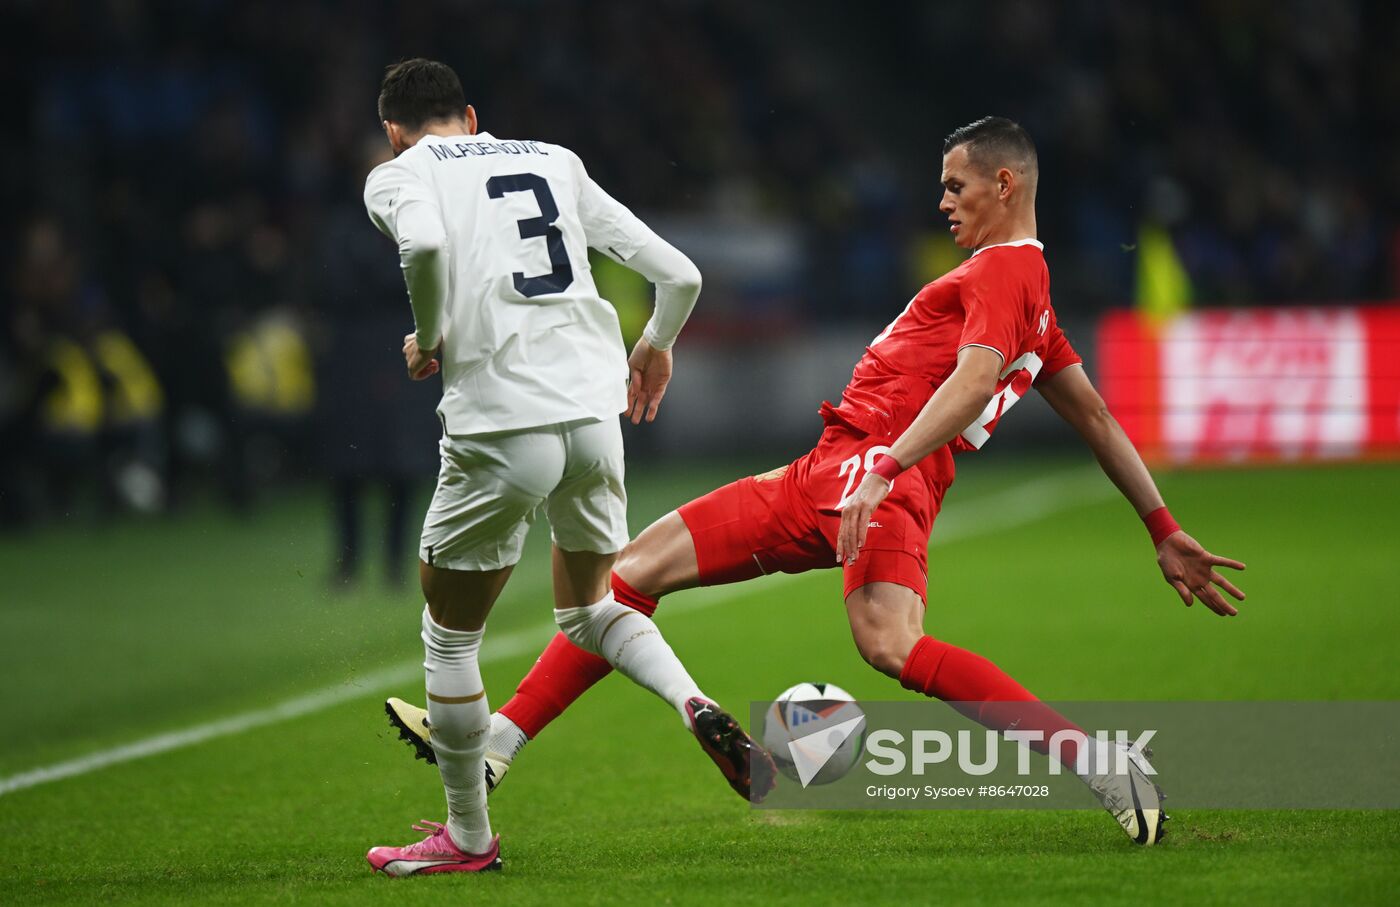
M 370 865 L 381 872 L 479 872 L 500 866 L 500 843 L 491 837 L 482 777 L 491 710 L 477 656 L 486 616 L 511 570 L 444 570 L 419 564 L 427 599 L 423 609 L 427 724 L 433 728 L 431 747 L 447 791 L 448 819 L 447 824 L 420 827 L 431 834 L 416 844 L 371 850 Z

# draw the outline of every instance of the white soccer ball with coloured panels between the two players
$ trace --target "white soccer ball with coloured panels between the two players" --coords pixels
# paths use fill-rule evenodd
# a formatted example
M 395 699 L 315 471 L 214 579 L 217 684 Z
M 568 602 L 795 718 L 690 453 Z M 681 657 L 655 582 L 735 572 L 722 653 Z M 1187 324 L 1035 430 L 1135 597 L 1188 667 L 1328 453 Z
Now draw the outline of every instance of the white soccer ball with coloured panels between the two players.
M 763 746 L 778 771 L 802 787 L 830 784 L 861 757 L 865 712 L 834 683 L 799 683 L 769 707 Z

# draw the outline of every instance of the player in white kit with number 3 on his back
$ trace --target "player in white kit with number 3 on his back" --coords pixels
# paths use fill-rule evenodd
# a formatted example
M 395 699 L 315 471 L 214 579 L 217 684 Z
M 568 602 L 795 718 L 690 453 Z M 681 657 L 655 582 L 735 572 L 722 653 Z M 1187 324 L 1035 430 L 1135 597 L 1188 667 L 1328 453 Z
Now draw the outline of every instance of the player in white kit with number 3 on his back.
M 665 698 L 727 775 L 746 775 L 762 752 L 704 697 L 651 619 L 609 589 L 627 543 L 617 414 L 655 417 L 700 273 L 568 148 L 477 132 L 476 111 L 442 63 L 391 66 L 379 119 L 396 157 L 370 174 L 365 207 L 399 245 L 416 328 L 403 340 L 409 375 L 442 374 L 441 470 L 420 575 L 428 722 L 448 819 L 414 826 L 428 833 L 421 841 L 375 847 L 367 858 L 393 876 L 479 872 L 501 864 L 486 812 L 491 710 L 477 651 L 540 507 L 553 532 L 554 616 L 568 638 Z M 589 248 L 657 287 L 630 358 L 594 286 Z

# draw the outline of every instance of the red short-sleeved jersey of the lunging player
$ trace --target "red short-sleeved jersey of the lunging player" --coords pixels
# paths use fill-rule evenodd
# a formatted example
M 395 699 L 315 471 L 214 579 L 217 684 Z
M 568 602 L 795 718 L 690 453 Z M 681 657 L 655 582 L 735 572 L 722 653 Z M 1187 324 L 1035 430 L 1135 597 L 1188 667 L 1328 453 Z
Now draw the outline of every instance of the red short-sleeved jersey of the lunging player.
M 1042 249 L 1035 239 L 984 246 L 920 290 L 865 347 L 841 405 L 823 403 L 822 419 L 893 442 L 953 372 L 958 353 L 980 346 L 1001 354 L 997 392 L 949 447 L 986 444 L 1036 381 L 1082 361 L 1056 323 Z

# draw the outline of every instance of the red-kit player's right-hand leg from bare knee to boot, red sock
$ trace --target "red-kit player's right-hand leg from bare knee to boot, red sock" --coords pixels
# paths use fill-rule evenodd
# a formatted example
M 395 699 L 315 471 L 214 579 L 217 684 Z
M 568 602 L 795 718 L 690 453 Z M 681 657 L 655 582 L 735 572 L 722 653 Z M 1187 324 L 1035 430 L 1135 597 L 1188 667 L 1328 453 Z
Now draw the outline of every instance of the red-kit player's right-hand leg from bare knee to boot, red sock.
M 861 658 L 906 689 L 932 696 L 993 731 L 1040 731 L 1036 752 L 1050 754 L 1044 740 L 1056 732 L 1084 732 L 1039 701 L 994 663 L 967 649 L 924 634 L 924 602 L 913 589 L 893 582 L 869 582 L 846 598 L 851 637 Z M 1096 773 L 1078 764 L 1079 745 L 1058 747 L 1058 757 L 1089 785 L 1105 809 L 1138 844 L 1162 838 L 1161 789 L 1135 757 L 1128 773 Z

